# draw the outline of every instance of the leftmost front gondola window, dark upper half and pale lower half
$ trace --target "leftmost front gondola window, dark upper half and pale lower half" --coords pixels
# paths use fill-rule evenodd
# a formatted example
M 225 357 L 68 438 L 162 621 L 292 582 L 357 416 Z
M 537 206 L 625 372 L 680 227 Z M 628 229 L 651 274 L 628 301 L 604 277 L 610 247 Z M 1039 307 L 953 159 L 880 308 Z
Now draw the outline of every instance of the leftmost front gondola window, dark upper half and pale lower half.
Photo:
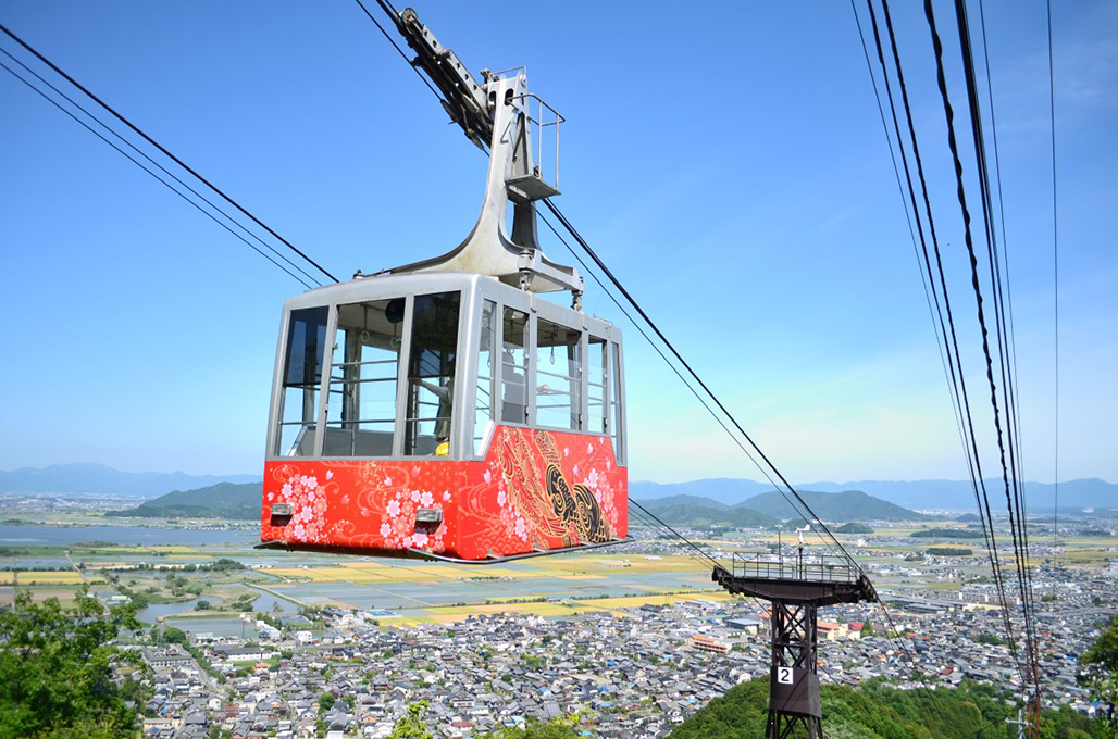
M 280 398 L 276 454 L 283 456 L 314 454 L 329 312 L 328 307 L 322 306 L 291 313 L 287 323 L 283 391 Z

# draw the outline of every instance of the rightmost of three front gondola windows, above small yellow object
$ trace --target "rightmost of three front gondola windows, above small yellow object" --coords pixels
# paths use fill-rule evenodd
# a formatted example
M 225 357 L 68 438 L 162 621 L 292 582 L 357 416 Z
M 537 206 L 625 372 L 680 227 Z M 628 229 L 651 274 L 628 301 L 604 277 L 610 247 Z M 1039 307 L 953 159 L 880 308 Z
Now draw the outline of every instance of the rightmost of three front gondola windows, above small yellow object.
M 415 297 L 404 454 L 449 454 L 461 303 L 457 291 Z

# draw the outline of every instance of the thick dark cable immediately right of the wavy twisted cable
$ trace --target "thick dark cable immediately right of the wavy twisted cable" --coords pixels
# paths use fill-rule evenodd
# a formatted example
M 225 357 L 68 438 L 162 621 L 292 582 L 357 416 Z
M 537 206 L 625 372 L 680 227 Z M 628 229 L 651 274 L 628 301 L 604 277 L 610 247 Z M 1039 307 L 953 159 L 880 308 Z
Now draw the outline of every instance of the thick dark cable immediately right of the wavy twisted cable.
M 1006 505 L 1010 514 L 1010 531 L 1013 534 L 1013 549 L 1014 557 L 1016 560 L 1016 571 L 1017 571 L 1017 586 L 1021 590 L 1021 603 L 1024 612 L 1024 623 L 1025 623 L 1025 654 L 1029 661 L 1030 672 L 1032 678 L 1036 681 L 1036 688 L 1040 690 L 1039 675 L 1038 675 L 1038 662 L 1035 657 L 1035 644 L 1033 637 L 1035 635 L 1035 628 L 1033 624 L 1034 617 L 1034 604 L 1032 598 L 1032 590 L 1029 584 L 1029 550 L 1025 546 L 1025 528 L 1026 521 L 1024 520 L 1022 510 L 1022 494 L 1021 486 L 1018 484 L 1017 477 L 1017 444 L 1014 434 L 1014 414 L 1013 405 L 1011 404 L 1011 392 L 1015 386 L 1013 373 L 1008 366 L 1008 334 L 1006 326 L 1006 315 L 1005 315 L 1005 304 L 1004 304 L 1004 290 L 1002 284 L 1002 275 L 999 269 L 999 259 L 997 256 L 997 240 L 994 234 L 994 222 L 993 222 L 993 195 L 989 186 L 989 169 L 987 167 L 987 155 L 986 146 L 984 140 L 984 132 L 982 126 L 982 110 L 978 103 L 978 91 L 977 91 L 977 74 L 975 72 L 974 54 L 970 44 L 970 31 L 969 25 L 967 22 L 966 6 L 963 0 L 956 0 L 955 3 L 956 20 L 959 31 L 959 46 L 963 51 L 963 68 L 964 77 L 967 85 L 967 104 L 970 108 L 970 127 L 972 136 L 975 143 L 975 159 L 976 167 L 978 168 L 979 178 L 978 184 L 982 195 L 983 203 L 983 217 L 986 226 L 986 256 L 989 263 L 989 281 L 991 291 L 993 293 L 993 304 L 994 304 L 994 325 L 995 335 L 997 339 L 997 352 L 998 352 L 998 366 L 1002 375 L 1002 402 L 1005 406 L 1005 442 L 1008 453 L 1008 466 L 1006 466 L 1005 454 L 1006 451 L 1002 452 L 1002 480 L 1005 484 L 1005 499 Z M 987 74 L 987 82 L 989 76 Z M 987 367 L 989 366 L 989 358 L 987 357 Z M 989 369 L 987 369 L 989 372 Z M 996 390 L 994 390 L 993 376 L 991 377 L 992 391 L 994 395 L 994 414 L 995 414 L 995 426 L 997 426 L 998 415 L 996 405 Z M 998 440 L 1001 443 L 1001 429 L 998 435 Z M 1001 447 L 999 447 L 1001 448 Z M 1012 472 L 1011 472 L 1012 470 Z M 1012 490 L 1011 490 L 1012 487 Z M 1016 520 L 1016 525 L 1014 521 Z M 1016 530 L 1021 530 L 1021 536 L 1016 534 Z

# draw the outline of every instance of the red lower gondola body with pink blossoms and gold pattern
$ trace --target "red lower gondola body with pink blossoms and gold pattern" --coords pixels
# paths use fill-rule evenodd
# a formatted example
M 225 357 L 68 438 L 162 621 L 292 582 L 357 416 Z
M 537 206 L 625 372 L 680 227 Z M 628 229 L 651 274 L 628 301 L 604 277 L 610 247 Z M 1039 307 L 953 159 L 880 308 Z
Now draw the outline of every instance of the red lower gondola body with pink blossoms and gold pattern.
M 608 437 L 498 426 L 484 461 L 268 461 L 264 541 L 485 560 L 628 532 L 626 468 Z M 269 514 L 274 503 L 297 513 Z M 438 510 L 439 525 L 416 521 Z

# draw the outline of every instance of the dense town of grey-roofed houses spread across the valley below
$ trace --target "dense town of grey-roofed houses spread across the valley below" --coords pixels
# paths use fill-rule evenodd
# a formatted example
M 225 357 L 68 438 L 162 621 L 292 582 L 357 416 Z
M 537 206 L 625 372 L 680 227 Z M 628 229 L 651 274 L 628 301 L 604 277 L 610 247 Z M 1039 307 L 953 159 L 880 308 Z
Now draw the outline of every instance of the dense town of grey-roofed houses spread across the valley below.
M 1090 579 L 1041 568 L 1034 588 L 1044 703 L 1090 713 L 1077 659 L 1112 613 L 1118 568 Z M 1017 686 L 987 587 L 880 596 L 891 623 L 878 605 L 821 609 L 823 683 Z M 766 604 L 746 599 L 695 597 L 562 619 L 493 614 L 387 626 L 386 616 L 329 607 L 314 620 L 245 614 L 252 639 L 198 633 L 189 652 L 135 647 L 153 671 L 144 736 L 376 739 L 421 701 L 428 730 L 442 739 L 576 712 L 594 736 L 664 737 L 736 683 L 768 679 Z

